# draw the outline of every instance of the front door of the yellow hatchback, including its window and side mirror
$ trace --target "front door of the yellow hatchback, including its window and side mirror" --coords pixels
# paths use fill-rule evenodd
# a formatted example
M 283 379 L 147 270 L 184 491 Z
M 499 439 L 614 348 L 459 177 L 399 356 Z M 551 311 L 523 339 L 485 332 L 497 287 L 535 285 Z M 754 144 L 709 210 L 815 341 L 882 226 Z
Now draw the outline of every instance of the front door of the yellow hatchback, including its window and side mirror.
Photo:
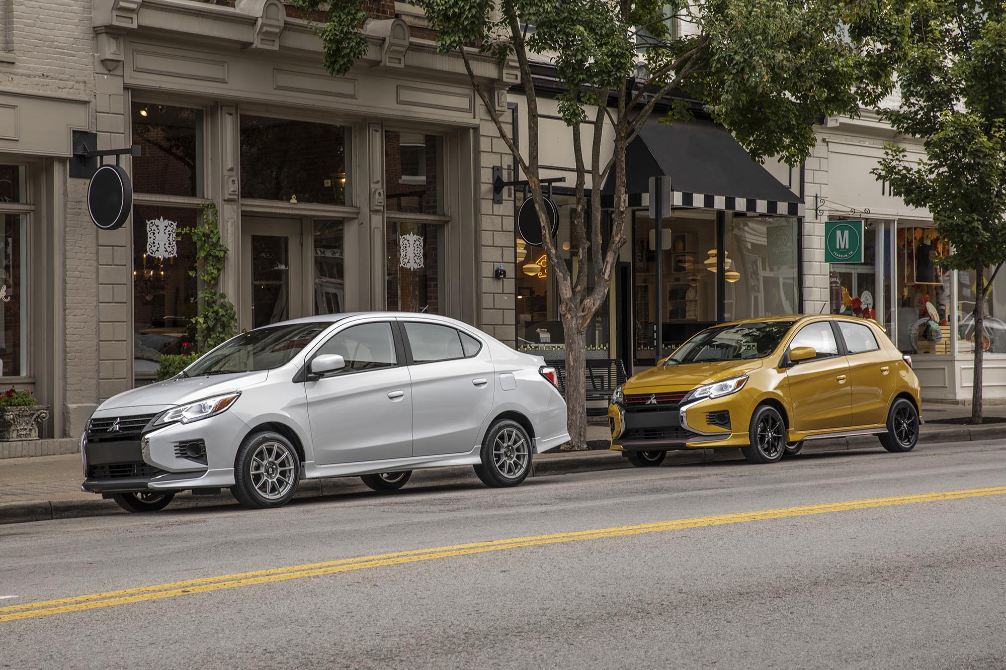
M 848 429 L 852 398 L 849 362 L 839 349 L 831 323 L 816 321 L 802 327 L 789 350 L 796 347 L 814 347 L 817 357 L 794 363 L 786 371 L 791 427 L 800 432 Z

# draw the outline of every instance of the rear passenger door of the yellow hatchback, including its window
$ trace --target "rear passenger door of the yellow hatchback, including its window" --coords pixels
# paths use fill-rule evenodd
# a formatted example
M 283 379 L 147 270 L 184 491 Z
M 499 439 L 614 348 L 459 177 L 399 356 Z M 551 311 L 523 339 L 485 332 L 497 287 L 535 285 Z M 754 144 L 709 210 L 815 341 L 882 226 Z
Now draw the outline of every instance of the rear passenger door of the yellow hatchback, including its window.
M 852 382 L 853 428 L 882 426 L 887 421 L 887 402 L 897 381 L 890 354 L 880 346 L 873 329 L 865 323 L 837 321 L 849 358 Z

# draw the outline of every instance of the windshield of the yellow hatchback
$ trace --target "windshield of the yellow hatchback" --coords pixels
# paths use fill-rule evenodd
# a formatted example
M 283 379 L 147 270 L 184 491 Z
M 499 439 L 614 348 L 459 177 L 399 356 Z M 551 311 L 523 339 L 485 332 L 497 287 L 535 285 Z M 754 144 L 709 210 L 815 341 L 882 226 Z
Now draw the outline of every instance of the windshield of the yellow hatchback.
M 759 321 L 709 328 L 678 347 L 664 364 L 765 358 L 792 327 L 792 321 Z

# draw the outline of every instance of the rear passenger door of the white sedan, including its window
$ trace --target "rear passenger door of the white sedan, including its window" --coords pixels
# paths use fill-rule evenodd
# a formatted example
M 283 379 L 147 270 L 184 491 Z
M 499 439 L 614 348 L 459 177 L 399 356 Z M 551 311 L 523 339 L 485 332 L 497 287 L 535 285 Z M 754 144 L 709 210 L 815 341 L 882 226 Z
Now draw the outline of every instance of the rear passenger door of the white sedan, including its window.
M 410 354 L 412 454 L 472 451 L 493 407 L 489 347 L 457 328 L 430 321 L 401 321 Z

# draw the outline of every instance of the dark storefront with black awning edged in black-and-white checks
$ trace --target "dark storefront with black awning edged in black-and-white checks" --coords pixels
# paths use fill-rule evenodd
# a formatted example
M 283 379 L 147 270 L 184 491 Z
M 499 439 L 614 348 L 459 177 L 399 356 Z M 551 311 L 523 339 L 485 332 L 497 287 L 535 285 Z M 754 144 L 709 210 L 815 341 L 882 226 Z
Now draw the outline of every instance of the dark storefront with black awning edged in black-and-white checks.
M 553 156 L 542 162 L 561 164 Z M 631 373 L 653 365 L 658 348 L 670 353 L 710 325 L 802 311 L 803 204 L 791 190 L 794 175 L 799 190 L 799 170 L 772 165 L 770 172 L 711 123 L 656 120 L 630 146 L 627 167 L 629 241 L 608 302 L 588 328 L 588 358 L 621 359 Z M 552 168 L 547 176 L 562 172 Z M 659 242 L 648 210 L 649 179 L 658 175 L 669 176 L 673 190 Z M 605 192 L 611 189 L 609 183 Z M 554 190 L 556 245 L 575 272 L 574 198 L 568 188 Z M 544 250 L 518 237 L 516 259 L 518 343 L 562 358 L 558 291 Z

